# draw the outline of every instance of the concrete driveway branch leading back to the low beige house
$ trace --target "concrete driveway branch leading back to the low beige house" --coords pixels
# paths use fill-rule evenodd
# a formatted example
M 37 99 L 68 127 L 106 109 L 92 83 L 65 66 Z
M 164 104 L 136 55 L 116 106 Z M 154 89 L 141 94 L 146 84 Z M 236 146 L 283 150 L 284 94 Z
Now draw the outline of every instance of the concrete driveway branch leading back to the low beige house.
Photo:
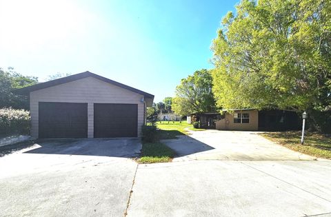
M 277 145 L 259 132 L 190 131 L 190 136 L 162 141 L 177 152 L 174 161 L 230 160 L 230 161 L 294 161 L 314 160 Z

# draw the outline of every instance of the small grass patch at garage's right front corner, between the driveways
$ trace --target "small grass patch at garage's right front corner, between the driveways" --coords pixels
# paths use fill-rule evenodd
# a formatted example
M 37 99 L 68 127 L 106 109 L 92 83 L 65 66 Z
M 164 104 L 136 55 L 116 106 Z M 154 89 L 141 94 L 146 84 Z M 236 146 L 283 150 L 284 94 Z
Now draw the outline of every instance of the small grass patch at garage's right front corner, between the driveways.
M 163 143 L 143 143 L 139 163 L 164 163 L 170 162 L 174 151 Z

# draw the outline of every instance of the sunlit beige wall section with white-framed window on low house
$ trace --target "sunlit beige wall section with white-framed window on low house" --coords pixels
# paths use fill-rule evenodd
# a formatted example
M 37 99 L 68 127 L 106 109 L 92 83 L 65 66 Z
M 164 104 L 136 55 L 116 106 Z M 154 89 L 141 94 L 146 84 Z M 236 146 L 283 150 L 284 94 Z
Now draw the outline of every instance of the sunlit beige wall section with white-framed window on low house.
M 216 121 L 217 130 L 258 130 L 259 112 L 254 109 L 225 111 Z

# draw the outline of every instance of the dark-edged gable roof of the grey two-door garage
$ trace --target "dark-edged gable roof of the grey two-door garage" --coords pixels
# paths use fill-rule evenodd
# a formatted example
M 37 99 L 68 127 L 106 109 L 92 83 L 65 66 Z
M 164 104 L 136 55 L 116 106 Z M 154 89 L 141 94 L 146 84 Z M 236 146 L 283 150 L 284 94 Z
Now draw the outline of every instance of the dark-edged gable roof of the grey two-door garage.
M 71 82 L 71 81 L 77 81 L 79 79 L 84 79 L 84 78 L 87 78 L 87 77 L 92 77 L 94 79 L 99 79 L 101 81 L 104 81 L 106 83 L 110 83 L 110 84 L 115 85 L 117 87 L 122 87 L 126 90 L 130 90 L 130 91 L 135 92 L 137 94 L 141 94 L 145 97 L 145 100 L 148 100 L 148 101 L 153 101 L 153 99 L 154 99 L 154 95 L 152 95 L 152 94 L 148 94 L 147 92 L 143 92 L 143 91 L 138 90 L 134 87 L 124 85 L 123 83 L 119 83 L 117 81 L 112 81 L 112 80 L 107 79 L 103 76 L 99 76 L 97 74 L 94 74 L 94 73 L 88 72 L 88 71 L 81 72 L 79 74 L 73 74 L 73 75 L 70 75 L 70 76 L 66 76 L 66 77 L 63 77 L 61 79 L 55 79 L 55 80 L 52 80 L 52 81 L 37 83 L 36 85 L 23 87 L 23 88 L 14 90 L 13 92 L 15 94 L 28 95 L 32 91 L 41 90 L 41 89 L 48 88 L 48 87 L 53 87 L 53 86 L 56 86 L 56 85 L 61 85 L 63 83 L 68 83 L 68 82 Z M 148 103 L 148 104 L 152 104 L 152 103 Z

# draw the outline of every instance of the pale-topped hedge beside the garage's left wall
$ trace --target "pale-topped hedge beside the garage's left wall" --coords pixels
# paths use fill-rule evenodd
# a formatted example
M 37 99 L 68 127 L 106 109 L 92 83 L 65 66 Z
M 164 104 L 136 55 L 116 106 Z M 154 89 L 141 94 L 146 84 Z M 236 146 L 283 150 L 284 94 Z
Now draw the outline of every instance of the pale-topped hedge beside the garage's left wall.
M 17 134 L 30 134 L 30 112 L 12 108 L 0 109 L 0 136 Z

